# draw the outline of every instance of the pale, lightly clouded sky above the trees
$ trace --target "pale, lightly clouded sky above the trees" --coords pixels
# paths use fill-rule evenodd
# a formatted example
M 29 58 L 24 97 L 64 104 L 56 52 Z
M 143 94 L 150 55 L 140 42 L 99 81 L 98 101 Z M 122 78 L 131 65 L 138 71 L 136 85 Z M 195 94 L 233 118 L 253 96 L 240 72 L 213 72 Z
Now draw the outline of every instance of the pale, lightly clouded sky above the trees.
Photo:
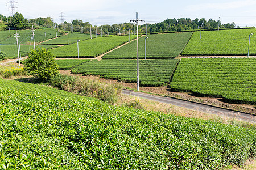
M 11 0 L 1 0 L 0 14 L 10 16 Z M 152 0 L 14 0 L 16 12 L 22 13 L 27 19 L 51 17 L 61 23 L 61 12 L 64 19 L 71 23 L 80 19 L 91 22 L 92 25 L 129 23 L 138 18 L 144 23 L 159 23 L 167 18 L 205 18 L 224 23 L 234 22 L 240 27 L 256 26 L 256 1 L 255 0 L 182 0 L 182 1 L 152 1 Z

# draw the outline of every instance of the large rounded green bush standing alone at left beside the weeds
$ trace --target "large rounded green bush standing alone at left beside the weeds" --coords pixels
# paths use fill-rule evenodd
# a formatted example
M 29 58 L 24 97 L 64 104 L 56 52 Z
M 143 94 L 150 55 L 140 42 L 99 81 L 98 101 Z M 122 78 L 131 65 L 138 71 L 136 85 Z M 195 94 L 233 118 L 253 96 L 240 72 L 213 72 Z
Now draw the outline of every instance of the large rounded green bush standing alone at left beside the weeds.
M 28 73 L 42 80 L 51 80 L 59 74 L 59 67 L 55 62 L 55 57 L 45 48 L 31 49 L 24 65 Z

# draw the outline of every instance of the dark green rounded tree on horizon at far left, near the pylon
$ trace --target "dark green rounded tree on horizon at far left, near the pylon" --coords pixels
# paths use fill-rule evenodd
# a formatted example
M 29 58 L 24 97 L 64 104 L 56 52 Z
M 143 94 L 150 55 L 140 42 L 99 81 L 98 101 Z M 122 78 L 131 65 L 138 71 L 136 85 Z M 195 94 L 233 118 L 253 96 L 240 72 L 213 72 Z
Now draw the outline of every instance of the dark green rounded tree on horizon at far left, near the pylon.
M 14 29 L 23 29 L 23 28 L 27 28 L 27 24 L 28 24 L 27 19 L 24 18 L 22 14 L 16 12 L 11 18 L 8 26 Z

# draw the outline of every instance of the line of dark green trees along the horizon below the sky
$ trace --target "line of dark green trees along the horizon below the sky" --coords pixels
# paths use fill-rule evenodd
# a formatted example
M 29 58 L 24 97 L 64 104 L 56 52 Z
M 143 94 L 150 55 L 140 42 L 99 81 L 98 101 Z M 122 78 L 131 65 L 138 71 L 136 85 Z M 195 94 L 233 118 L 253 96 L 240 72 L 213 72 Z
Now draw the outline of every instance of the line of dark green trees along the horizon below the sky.
M 2 25 L 0 29 L 30 29 L 32 24 L 36 26 L 43 26 L 47 28 L 56 27 L 64 31 L 74 31 L 82 33 L 92 33 L 97 34 L 128 34 L 135 32 L 135 23 L 121 23 L 121 24 L 112 24 L 112 25 L 101 25 L 97 27 L 96 25 L 92 26 L 89 22 L 83 22 L 80 19 L 72 20 L 71 23 L 64 22 L 61 24 L 56 24 L 51 17 L 47 18 L 35 18 L 35 19 L 26 19 L 24 16 L 16 12 L 12 17 L 6 17 L 1 15 Z M 4 26 L 3 26 L 4 25 Z M 209 19 L 208 21 L 205 18 L 194 19 L 190 18 L 179 18 L 179 19 L 166 19 L 163 22 L 156 24 L 144 23 L 139 25 L 138 29 L 140 33 L 152 33 L 152 32 L 167 32 L 167 31 L 186 31 L 186 30 L 195 30 L 195 29 L 216 29 L 216 28 L 235 28 L 236 24 L 226 23 L 222 24 L 220 20 Z M 237 26 L 239 27 L 239 26 Z

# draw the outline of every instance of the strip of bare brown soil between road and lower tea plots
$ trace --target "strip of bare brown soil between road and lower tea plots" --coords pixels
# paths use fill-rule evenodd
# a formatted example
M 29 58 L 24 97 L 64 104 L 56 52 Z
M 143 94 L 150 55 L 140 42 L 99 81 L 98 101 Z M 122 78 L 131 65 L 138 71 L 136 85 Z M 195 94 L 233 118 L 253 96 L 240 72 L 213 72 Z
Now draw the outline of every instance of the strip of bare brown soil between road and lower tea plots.
M 70 70 L 60 71 L 60 73 L 61 74 L 72 75 L 70 73 Z M 82 75 L 80 75 L 80 76 L 82 76 Z M 105 82 L 105 83 L 119 83 L 119 84 L 121 84 L 121 86 L 123 86 L 125 88 L 130 88 L 130 89 L 133 89 L 133 90 L 137 89 L 137 84 L 135 84 L 135 83 L 125 83 L 125 82 L 118 82 L 118 80 L 102 79 L 102 78 L 99 78 L 98 76 L 83 76 L 83 77 L 87 78 L 87 79 L 99 79 L 99 80 L 101 80 L 101 82 Z M 163 87 L 139 87 L 139 90 L 144 91 L 144 92 L 148 92 L 148 93 L 151 93 L 151 94 L 160 95 L 160 96 L 174 97 L 174 98 L 177 98 L 177 99 L 195 101 L 197 103 L 203 103 L 203 104 L 213 105 L 213 106 L 216 106 L 216 107 L 232 109 L 232 110 L 235 110 L 235 111 L 256 114 L 256 107 L 253 106 L 253 105 L 231 104 L 231 103 L 225 103 L 225 102 L 221 101 L 220 98 L 196 97 L 196 96 L 192 96 L 192 94 L 190 94 L 190 93 L 172 92 L 172 91 L 170 91 L 169 88 L 167 88 L 167 86 L 163 86 Z

